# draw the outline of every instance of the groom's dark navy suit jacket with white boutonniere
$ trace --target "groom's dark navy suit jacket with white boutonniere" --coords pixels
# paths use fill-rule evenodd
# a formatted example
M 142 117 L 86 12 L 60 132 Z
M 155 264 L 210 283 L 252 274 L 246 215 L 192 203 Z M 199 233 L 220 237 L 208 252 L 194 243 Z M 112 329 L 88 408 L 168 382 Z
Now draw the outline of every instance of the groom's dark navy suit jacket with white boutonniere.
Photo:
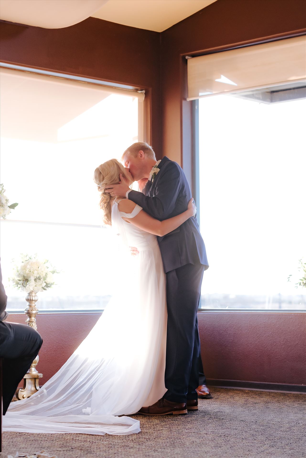
M 146 213 L 160 221 L 187 210 L 191 199 L 188 181 L 181 167 L 168 159 L 161 159 L 160 171 L 145 185 L 143 192 L 130 191 L 128 198 Z M 203 264 L 208 269 L 206 249 L 196 218 L 189 218 L 178 229 L 157 237 L 165 273 L 186 264 Z

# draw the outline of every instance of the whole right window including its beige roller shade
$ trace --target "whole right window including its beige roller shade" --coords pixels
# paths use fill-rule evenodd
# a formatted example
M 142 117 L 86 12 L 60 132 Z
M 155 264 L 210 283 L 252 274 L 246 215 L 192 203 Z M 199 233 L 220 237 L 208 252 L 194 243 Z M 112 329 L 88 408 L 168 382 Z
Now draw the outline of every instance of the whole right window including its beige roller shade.
M 202 309 L 306 308 L 305 54 L 295 37 L 187 61 Z

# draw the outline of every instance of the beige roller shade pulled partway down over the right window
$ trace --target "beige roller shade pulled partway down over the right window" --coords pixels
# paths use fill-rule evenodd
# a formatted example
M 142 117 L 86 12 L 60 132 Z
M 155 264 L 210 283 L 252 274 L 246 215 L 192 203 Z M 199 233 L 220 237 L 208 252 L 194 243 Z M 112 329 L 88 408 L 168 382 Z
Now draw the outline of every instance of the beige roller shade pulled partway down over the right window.
M 305 36 L 189 58 L 188 98 L 275 86 L 306 78 Z

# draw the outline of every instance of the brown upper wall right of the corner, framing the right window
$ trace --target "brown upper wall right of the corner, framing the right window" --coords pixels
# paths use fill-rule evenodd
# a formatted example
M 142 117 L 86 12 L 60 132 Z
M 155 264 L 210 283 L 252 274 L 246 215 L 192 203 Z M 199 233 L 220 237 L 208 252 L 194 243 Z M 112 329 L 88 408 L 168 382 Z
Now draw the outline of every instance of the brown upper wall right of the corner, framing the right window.
M 193 127 L 185 56 L 305 33 L 305 27 L 304 0 L 217 0 L 161 33 L 162 154 L 183 164 L 189 183 Z

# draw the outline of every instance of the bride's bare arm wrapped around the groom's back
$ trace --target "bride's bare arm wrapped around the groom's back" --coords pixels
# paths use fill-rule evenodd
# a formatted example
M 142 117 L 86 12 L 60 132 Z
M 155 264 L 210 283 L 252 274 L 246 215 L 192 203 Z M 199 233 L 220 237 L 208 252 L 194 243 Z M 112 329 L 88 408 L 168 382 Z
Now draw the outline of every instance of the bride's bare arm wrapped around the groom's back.
M 132 213 L 136 204 L 133 201 L 128 199 L 123 199 L 119 202 L 118 207 L 121 212 Z M 144 230 L 145 232 L 150 232 L 150 234 L 163 236 L 172 232 L 172 230 L 177 229 L 178 226 L 183 224 L 187 219 L 194 216 L 196 212 L 195 204 L 193 199 L 189 201 L 188 208 L 185 212 L 180 213 L 173 218 L 165 219 L 164 221 L 158 221 L 158 219 L 152 218 L 148 213 L 145 213 L 141 210 L 134 218 L 123 218 L 128 223 L 133 224 L 139 229 Z

